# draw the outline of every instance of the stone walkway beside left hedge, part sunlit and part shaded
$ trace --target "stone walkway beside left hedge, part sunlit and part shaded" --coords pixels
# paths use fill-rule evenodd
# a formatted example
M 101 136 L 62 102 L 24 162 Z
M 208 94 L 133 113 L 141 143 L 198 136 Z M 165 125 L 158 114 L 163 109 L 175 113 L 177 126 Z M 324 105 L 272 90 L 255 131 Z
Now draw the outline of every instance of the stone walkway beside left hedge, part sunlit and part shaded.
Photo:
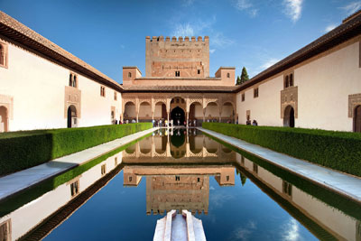
M 114 141 L 99 144 L 78 153 L 72 153 L 50 162 L 46 162 L 32 168 L 17 171 L 0 178 L 0 201 L 15 193 L 32 187 L 33 185 L 54 177 L 64 171 L 84 164 L 97 156 L 111 152 L 121 145 L 128 144 L 145 134 L 153 133 L 158 127 L 154 127 L 135 134 L 129 134 Z

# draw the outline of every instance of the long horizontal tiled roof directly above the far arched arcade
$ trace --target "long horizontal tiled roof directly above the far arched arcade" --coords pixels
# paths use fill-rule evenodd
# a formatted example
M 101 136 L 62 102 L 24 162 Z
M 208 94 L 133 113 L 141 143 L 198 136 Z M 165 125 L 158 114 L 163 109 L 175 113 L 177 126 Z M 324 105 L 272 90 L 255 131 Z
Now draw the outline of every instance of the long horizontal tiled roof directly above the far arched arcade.
M 229 92 L 236 86 L 123 86 L 124 92 Z

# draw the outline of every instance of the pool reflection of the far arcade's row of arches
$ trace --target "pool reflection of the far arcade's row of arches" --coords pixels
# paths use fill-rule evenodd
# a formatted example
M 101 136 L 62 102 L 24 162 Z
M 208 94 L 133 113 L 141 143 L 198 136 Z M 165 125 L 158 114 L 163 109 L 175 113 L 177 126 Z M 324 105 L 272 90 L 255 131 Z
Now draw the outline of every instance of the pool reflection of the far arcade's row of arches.
M 194 130 L 195 132 L 195 130 Z M 128 147 L 123 153 L 123 163 L 143 162 L 208 162 L 232 163 L 236 153 L 203 134 L 187 134 L 177 129 L 170 134 L 159 132 Z

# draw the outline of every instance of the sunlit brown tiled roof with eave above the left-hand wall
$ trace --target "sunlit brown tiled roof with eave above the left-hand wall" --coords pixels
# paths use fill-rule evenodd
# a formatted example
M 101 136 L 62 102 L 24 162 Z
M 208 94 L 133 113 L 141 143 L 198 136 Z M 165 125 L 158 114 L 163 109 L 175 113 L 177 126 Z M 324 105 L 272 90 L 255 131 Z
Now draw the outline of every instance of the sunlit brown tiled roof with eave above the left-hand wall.
M 80 73 L 95 79 L 103 84 L 122 91 L 123 88 L 114 79 L 110 79 L 105 74 L 90 66 L 78 57 L 60 48 L 60 46 L 42 37 L 37 32 L 16 21 L 11 16 L 0 11 L 0 34 L 5 37 L 20 42 L 24 46 L 34 51 L 41 52 L 43 55 L 57 60 L 71 69 L 78 70 Z

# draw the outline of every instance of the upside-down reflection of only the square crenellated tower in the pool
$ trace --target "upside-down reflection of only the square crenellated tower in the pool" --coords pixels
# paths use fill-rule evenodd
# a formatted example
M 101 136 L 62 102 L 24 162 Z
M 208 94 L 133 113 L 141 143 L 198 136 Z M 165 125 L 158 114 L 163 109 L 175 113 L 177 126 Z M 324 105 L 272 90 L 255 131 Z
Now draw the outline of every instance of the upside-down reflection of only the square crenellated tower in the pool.
M 209 176 L 167 175 L 146 178 L 146 212 L 187 209 L 208 214 Z

